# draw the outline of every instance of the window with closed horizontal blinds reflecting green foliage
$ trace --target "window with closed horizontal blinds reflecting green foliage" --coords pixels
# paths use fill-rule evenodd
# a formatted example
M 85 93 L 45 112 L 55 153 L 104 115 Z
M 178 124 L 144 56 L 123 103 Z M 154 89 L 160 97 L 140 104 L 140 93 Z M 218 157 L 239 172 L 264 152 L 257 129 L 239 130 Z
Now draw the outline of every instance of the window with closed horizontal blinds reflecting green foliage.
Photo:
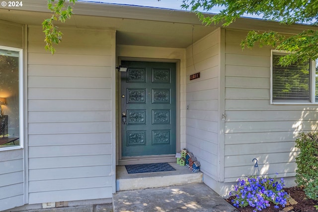
M 317 93 L 317 80 L 313 83 L 311 62 L 294 63 L 287 67 L 282 67 L 278 64 L 280 57 L 284 56 L 281 53 L 272 54 L 272 101 L 275 102 L 290 102 L 290 103 L 306 103 L 315 102 L 318 99 L 312 97 Z M 315 71 L 316 72 L 316 71 Z M 316 73 L 318 78 L 318 74 Z

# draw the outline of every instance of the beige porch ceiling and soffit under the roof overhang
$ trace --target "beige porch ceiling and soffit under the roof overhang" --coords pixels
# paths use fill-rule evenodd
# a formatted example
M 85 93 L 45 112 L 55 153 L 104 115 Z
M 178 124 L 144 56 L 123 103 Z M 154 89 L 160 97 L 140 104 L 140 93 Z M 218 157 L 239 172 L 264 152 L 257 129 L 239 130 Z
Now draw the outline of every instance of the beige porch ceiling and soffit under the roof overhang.
M 50 13 L 0 9 L 0 20 L 15 23 L 40 26 L 48 17 Z M 116 43 L 119 45 L 171 48 L 186 48 L 216 28 L 199 24 L 78 14 L 61 26 L 116 30 Z

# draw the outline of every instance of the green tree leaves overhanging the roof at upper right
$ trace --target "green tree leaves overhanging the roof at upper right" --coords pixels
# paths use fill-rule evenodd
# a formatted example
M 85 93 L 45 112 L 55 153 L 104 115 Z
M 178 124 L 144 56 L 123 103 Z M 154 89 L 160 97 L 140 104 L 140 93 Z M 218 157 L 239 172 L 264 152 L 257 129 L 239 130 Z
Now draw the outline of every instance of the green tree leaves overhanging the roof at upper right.
M 215 15 L 207 15 L 214 7 L 221 7 Z M 318 26 L 318 1 L 309 0 L 182 0 L 181 8 L 197 14 L 205 25 L 222 24 L 227 27 L 237 18 L 246 15 L 260 15 L 263 19 L 282 24 L 305 23 Z M 199 11 L 200 10 L 200 11 Z M 202 12 L 203 11 L 203 12 Z M 318 31 L 307 30 L 295 35 L 284 35 L 274 32 L 251 31 L 241 42 L 241 48 L 271 46 L 291 54 L 282 57 L 280 65 L 304 62 L 318 58 Z

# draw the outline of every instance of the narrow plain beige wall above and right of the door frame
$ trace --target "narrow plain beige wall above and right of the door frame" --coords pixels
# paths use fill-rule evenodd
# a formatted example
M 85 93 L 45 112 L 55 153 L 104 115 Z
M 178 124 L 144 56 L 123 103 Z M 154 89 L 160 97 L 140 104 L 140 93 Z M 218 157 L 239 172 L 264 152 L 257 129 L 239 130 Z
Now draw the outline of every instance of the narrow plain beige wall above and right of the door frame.
M 180 149 L 185 148 L 185 86 L 186 86 L 186 72 L 185 72 L 185 49 L 177 48 L 160 48 L 160 47 L 146 47 L 146 46 L 129 46 L 129 45 L 117 45 L 116 49 L 117 57 L 132 57 L 132 58 L 148 58 L 148 59 L 176 59 L 180 60 L 180 74 L 177 76 L 180 80 L 180 87 L 177 87 L 179 91 L 180 102 Z M 118 96 L 118 93 L 116 94 Z M 118 128 L 118 126 L 117 126 Z M 118 130 L 117 130 L 118 132 Z M 119 145 L 117 145 L 119 146 Z M 179 149 L 179 150 L 180 150 Z M 179 151 L 177 149 L 177 151 Z M 116 149 L 116 154 L 119 154 L 119 149 Z

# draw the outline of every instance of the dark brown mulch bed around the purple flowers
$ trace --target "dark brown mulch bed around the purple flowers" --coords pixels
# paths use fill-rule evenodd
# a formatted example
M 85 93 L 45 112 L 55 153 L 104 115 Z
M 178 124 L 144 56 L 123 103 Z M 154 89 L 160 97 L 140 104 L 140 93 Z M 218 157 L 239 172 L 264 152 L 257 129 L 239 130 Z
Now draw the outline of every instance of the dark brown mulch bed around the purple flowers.
M 318 205 L 318 201 L 310 200 L 306 198 L 305 192 L 299 188 L 299 187 L 291 187 L 291 188 L 284 188 L 284 190 L 289 193 L 289 195 L 297 202 L 296 205 L 289 205 L 287 207 L 293 207 L 290 208 L 290 210 L 284 210 L 284 212 L 318 212 L 315 205 Z M 231 200 L 233 200 L 234 197 L 230 197 L 227 199 L 227 201 L 231 204 Z M 247 206 L 244 208 L 237 208 L 239 212 L 252 212 L 254 208 Z M 263 209 L 262 212 L 279 212 L 282 211 L 284 208 L 280 207 L 279 209 L 274 208 L 274 204 L 271 204 L 270 207 Z

